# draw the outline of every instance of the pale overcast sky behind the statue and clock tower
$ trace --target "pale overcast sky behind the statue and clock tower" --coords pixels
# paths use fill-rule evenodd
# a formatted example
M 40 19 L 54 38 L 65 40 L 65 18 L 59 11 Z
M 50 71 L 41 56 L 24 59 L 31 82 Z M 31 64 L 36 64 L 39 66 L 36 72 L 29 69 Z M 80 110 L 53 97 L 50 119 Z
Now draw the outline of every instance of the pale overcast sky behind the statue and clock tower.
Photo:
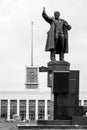
M 42 18 L 43 7 L 49 16 L 60 11 L 72 26 L 65 60 L 71 70 L 80 70 L 80 91 L 87 90 L 87 0 L 0 0 L 0 90 L 25 88 L 25 67 L 31 65 L 31 21 L 34 66 L 47 66 L 50 26 Z

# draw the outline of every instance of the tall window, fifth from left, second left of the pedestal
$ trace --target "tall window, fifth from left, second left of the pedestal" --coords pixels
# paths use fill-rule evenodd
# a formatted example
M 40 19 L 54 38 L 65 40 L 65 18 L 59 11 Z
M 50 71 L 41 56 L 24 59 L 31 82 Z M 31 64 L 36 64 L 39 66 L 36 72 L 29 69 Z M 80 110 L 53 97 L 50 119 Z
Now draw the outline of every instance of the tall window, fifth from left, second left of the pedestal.
M 45 119 L 45 100 L 38 100 L 38 119 Z

